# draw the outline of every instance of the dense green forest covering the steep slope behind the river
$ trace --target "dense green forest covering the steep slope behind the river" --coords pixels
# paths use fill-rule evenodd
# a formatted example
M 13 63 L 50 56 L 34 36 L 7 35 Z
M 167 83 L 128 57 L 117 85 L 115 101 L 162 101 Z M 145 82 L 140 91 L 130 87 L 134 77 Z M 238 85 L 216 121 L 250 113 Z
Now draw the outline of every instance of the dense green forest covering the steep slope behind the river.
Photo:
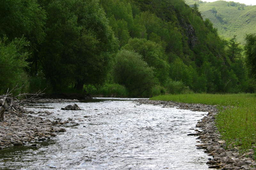
M 184 0 L 3 0 L 0 16 L 1 93 L 255 91 L 236 36 L 220 38 Z

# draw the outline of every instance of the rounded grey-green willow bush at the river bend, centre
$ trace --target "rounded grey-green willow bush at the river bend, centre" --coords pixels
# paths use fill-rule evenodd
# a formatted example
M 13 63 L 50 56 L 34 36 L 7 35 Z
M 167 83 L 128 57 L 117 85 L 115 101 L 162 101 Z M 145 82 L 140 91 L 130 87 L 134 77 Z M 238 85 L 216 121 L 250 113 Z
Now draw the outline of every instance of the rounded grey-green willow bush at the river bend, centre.
M 133 97 L 139 97 L 156 85 L 152 67 L 142 60 L 138 53 L 121 50 L 116 55 L 114 80 L 124 85 Z

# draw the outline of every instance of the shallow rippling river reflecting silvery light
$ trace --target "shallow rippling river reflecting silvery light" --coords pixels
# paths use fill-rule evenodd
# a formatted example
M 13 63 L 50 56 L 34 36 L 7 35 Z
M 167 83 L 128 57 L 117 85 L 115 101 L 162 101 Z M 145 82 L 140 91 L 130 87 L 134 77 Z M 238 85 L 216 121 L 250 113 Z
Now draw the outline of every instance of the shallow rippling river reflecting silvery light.
M 54 112 L 44 119 L 73 123 L 39 147 L 5 149 L 0 169 L 208 169 L 210 157 L 196 149 L 195 136 L 187 136 L 205 112 L 138 105 L 132 99 L 76 102 L 83 110 L 60 110 L 68 104 L 74 103 L 28 108 Z

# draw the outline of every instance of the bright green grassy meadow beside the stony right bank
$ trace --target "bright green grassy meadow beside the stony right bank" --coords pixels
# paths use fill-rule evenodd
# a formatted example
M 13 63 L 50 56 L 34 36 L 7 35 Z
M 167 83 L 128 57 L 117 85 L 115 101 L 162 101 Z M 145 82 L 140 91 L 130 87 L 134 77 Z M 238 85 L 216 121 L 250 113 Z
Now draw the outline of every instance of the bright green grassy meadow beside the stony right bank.
M 161 95 L 150 100 L 219 105 L 216 126 L 226 143 L 240 147 L 241 151 L 256 145 L 256 94 Z

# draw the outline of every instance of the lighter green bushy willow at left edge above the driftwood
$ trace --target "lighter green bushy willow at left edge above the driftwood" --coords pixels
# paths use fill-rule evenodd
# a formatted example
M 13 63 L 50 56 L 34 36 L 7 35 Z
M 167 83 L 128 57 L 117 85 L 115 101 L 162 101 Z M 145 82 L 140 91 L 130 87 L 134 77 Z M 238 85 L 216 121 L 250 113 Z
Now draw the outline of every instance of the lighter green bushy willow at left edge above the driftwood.
M 17 93 L 27 90 L 28 76 L 25 68 L 28 67 L 28 52 L 25 47 L 29 43 L 25 38 L 15 38 L 8 42 L 7 37 L 0 39 L 0 94 L 6 93 L 7 89 L 12 89 L 16 85 L 22 86 Z

